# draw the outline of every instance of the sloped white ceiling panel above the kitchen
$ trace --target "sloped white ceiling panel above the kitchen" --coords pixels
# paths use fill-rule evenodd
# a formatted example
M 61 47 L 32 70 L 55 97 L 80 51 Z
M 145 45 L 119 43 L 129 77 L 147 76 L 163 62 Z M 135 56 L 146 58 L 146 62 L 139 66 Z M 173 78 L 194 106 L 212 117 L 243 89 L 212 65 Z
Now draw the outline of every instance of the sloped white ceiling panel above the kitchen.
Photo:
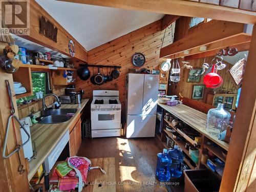
M 36 2 L 88 51 L 163 17 L 158 13 L 53 0 Z

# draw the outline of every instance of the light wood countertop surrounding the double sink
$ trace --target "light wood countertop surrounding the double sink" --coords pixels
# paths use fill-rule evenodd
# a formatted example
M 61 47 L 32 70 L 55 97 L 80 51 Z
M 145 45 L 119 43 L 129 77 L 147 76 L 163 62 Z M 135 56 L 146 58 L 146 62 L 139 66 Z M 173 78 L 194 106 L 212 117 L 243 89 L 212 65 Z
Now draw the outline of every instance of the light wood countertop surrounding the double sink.
M 89 98 L 83 99 L 80 104 L 61 104 L 60 109 L 76 108 L 77 112 L 68 121 L 56 124 L 39 124 L 36 123 L 30 127 L 32 142 L 35 141 L 36 159 L 29 162 L 28 179 L 30 180 L 38 167 L 45 161 L 53 148 L 59 142 L 60 138 L 69 130 L 70 125 L 80 114 L 84 106 L 88 103 Z

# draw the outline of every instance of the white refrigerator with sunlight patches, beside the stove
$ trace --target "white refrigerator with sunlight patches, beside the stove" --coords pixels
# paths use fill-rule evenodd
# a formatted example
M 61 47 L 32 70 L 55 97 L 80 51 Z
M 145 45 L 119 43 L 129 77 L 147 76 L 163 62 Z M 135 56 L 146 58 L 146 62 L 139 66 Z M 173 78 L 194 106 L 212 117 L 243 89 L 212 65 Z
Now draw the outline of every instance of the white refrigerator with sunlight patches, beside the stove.
M 127 75 L 126 138 L 155 137 L 158 83 L 159 75 Z

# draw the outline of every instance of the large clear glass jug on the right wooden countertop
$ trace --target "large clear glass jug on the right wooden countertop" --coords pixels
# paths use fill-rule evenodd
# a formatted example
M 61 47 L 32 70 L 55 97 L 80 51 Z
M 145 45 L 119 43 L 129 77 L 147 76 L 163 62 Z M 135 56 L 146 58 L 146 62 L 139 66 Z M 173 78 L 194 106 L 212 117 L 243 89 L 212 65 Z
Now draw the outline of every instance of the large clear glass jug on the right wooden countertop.
M 217 108 L 208 111 L 205 130 L 210 135 L 219 137 L 223 131 L 227 130 L 231 115 L 224 110 L 223 106 L 219 103 Z

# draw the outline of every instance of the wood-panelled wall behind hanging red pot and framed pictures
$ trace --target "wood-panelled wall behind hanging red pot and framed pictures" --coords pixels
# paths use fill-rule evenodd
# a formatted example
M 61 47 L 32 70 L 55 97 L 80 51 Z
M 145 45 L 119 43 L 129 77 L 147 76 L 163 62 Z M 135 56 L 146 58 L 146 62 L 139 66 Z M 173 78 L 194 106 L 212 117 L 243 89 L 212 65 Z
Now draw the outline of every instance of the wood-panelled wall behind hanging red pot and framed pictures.
M 203 63 L 206 62 L 210 65 L 211 60 L 214 57 L 205 57 L 205 58 L 199 58 L 199 59 L 193 59 L 193 60 L 186 60 L 187 62 L 189 62 L 189 65 L 193 66 L 194 69 L 199 69 L 202 67 Z M 238 89 L 238 86 L 236 85 L 236 83 L 233 81 L 233 78 L 231 77 L 230 73 L 227 73 L 227 70 L 229 70 L 232 65 L 226 61 L 223 61 L 223 63 L 226 64 L 226 68 L 224 70 L 218 71 L 218 74 L 223 78 L 223 84 L 220 88 L 215 89 L 215 91 L 218 90 L 222 90 L 222 88 L 225 88 L 225 90 L 228 89 L 232 89 L 232 88 L 236 88 Z M 181 77 L 181 90 L 180 93 L 183 97 L 186 98 L 192 98 L 192 92 L 193 92 L 193 86 L 196 84 L 202 84 L 203 83 L 203 76 L 201 76 L 200 78 L 200 82 L 187 82 L 187 78 L 188 78 L 188 73 L 189 73 L 189 69 L 184 69 L 183 70 L 183 75 Z M 209 88 L 205 88 L 204 90 L 204 97 L 203 99 L 195 99 L 197 101 L 201 101 L 201 102 L 206 102 L 206 97 L 207 97 L 207 93 L 213 93 L 214 89 L 209 89 Z

